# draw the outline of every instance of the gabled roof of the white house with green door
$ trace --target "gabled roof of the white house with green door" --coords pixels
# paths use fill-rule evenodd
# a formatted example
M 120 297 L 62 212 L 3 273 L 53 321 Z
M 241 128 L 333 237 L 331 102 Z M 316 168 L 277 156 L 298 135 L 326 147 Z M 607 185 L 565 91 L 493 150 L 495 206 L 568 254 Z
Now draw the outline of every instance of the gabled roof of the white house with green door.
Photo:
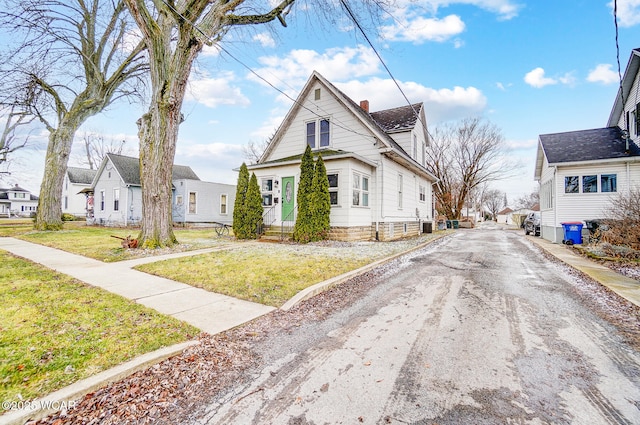
M 410 131 L 413 129 L 418 121 L 418 116 L 421 121 L 424 122 L 423 131 L 425 132 L 425 138 L 427 138 L 426 134 L 426 120 L 424 118 L 424 105 L 422 103 L 416 103 L 411 106 L 405 106 L 400 108 L 388 109 L 385 111 L 378 111 L 374 113 L 368 113 L 364 109 L 362 109 L 358 104 L 356 104 L 349 96 L 339 90 L 336 86 L 334 86 L 331 82 L 329 82 L 326 78 L 324 78 L 317 71 L 313 71 L 306 84 L 300 91 L 294 105 L 291 107 L 284 120 L 280 124 L 280 127 L 276 130 L 275 135 L 273 136 L 271 142 L 265 149 L 262 157 L 258 161 L 260 165 L 264 163 L 271 151 L 275 146 L 278 145 L 280 139 L 283 137 L 284 133 L 287 131 L 289 126 L 292 124 L 297 112 L 302 108 L 305 99 L 309 96 L 311 89 L 314 84 L 319 82 L 334 96 L 334 98 L 341 103 L 347 111 L 351 112 L 356 119 L 358 119 L 365 128 L 367 128 L 371 135 L 377 140 L 380 141 L 382 149 L 382 153 L 393 158 L 398 162 L 402 162 L 405 166 L 420 170 L 421 173 L 428 175 L 433 181 L 436 181 L 437 178 L 429 173 L 421 164 L 411 158 L 407 152 L 396 143 L 395 140 L 389 135 L 389 133 L 398 132 L 398 131 Z M 412 118 L 408 116 L 408 114 L 412 114 Z M 416 116 L 416 114 L 418 116 Z M 377 117 L 377 119 L 376 119 Z M 378 121 L 379 120 L 379 121 Z

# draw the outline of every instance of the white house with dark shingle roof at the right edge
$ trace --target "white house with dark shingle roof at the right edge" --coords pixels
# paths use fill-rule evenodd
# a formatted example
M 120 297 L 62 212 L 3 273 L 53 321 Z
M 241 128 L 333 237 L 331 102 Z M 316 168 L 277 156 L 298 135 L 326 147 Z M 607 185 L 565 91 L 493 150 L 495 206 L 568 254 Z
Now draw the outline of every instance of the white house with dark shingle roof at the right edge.
M 605 218 L 612 199 L 640 187 L 639 69 L 635 49 L 607 127 L 539 136 L 535 179 L 543 238 L 562 241 L 563 222 Z

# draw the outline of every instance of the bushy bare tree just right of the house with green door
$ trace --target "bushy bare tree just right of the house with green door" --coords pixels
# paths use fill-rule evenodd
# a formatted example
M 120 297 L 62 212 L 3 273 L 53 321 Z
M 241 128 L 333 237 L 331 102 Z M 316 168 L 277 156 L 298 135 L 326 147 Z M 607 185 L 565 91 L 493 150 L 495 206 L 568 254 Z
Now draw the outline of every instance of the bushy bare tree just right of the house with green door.
M 436 128 L 426 153 L 426 168 L 438 178 L 438 212 L 449 219 L 460 218 L 475 188 L 508 177 L 519 167 L 507 157 L 501 131 L 481 118 Z

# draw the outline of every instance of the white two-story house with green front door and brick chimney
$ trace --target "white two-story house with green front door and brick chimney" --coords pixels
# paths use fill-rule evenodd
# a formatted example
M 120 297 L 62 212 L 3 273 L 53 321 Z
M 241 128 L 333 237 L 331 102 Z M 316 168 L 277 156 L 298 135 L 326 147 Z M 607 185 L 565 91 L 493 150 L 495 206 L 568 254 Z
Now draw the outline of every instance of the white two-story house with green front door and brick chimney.
M 422 103 L 369 112 L 313 72 L 257 164 L 266 225 L 295 222 L 300 161 L 322 154 L 331 198 L 330 238 L 389 240 L 433 224 L 424 167 L 429 143 Z

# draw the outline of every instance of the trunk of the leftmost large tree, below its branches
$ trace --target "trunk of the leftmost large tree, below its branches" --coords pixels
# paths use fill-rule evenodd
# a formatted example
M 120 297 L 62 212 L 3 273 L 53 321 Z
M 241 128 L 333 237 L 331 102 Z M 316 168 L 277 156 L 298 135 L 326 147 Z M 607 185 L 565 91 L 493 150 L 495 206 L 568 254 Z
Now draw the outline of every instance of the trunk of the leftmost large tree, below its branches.
M 63 121 L 57 129 L 49 133 L 44 176 L 40 186 L 40 199 L 34 225 L 36 230 L 62 228 L 62 187 L 73 135 L 79 126 L 80 124 L 75 120 Z

